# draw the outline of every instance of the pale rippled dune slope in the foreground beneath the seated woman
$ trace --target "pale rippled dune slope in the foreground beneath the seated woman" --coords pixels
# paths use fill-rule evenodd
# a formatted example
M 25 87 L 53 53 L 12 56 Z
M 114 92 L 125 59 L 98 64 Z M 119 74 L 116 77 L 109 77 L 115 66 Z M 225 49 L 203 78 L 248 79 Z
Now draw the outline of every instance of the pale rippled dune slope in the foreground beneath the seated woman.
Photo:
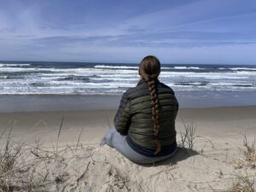
M 37 172 L 49 170 L 48 178 L 55 181 L 49 184 L 51 191 L 99 192 L 224 191 L 236 175 L 252 180 L 256 175 L 256 168 L 246 164 L 236 169 L 236 161 L 243 158 L 241 141 L 197 137 L 195 146 L 195 150 L 179 148 L 170 160 L 142 166 L 108 146 L 85 145 L 75 155 L 67 149 L 55 160 L 43 160 Z

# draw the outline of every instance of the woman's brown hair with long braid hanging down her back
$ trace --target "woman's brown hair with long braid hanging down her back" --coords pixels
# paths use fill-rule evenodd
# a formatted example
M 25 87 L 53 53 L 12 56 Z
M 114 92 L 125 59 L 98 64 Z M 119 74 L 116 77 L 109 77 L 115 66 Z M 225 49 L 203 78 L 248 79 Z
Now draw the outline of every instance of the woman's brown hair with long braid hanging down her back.
M 158 154 L 161 150 L 161 141 L 159 139 L 159 102 L 157 90 L 155 89 L 155 81 L 160 75 L 160 61 L 153 55 L 144 57 L 139 66 L 139 75 L 148 83 L 148 90 L 151 96 L 152 119 L 154 122 L 154 140 L 156 143 L 154 154 Z

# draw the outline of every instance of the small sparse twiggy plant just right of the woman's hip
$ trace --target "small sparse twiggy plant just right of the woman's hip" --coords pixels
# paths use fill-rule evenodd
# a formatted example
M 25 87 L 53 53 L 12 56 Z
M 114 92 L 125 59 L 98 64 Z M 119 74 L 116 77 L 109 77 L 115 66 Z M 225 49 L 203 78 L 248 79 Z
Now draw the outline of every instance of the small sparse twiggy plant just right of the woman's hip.
M 195 130 L 196 124 L 191 123 L 190 125 L 185 124 L 183 121 L 183 125 L 185 128 L 185 132 L 180 131 L 181 136 L 181 147 L 182 148 L 189 148 L 192 150 L 195 144 Z

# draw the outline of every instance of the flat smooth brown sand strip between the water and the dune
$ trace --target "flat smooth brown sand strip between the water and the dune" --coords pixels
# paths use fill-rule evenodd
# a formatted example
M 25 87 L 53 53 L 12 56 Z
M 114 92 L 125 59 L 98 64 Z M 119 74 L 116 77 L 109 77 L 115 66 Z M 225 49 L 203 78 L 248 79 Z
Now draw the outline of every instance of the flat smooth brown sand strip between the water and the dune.
M 61 127 L 61 143 L 75 143 L 83 129 L 81 142 L 99 143 L 104 132 L 113 126 L 116 110 L 16 112 L 0 113 L 0 131 L 12 128 L 15 138 L 54 143 Z M 196 124 L 198 135 L 206 137 L 240 137 L 247 131 L 256 135 L 256 107 L 182 108 L 178 111 L 177 132 L 185 124 Z

